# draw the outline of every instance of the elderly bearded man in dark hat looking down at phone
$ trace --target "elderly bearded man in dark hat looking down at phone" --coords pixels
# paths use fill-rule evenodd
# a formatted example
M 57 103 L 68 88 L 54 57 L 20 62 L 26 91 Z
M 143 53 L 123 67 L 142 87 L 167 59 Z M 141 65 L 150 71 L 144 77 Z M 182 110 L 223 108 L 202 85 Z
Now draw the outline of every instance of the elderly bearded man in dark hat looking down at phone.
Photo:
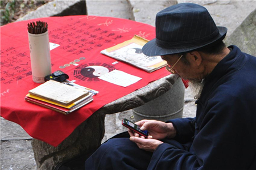
M 256 58 L 222 42 L 208 11 L 180 3 L 156 15 L 156 39 L 143 46 L 167 70 L 198 87 L 195 118 L 137 122 L 147 138 L 110 139 L 86 169 L 256 169 Z

